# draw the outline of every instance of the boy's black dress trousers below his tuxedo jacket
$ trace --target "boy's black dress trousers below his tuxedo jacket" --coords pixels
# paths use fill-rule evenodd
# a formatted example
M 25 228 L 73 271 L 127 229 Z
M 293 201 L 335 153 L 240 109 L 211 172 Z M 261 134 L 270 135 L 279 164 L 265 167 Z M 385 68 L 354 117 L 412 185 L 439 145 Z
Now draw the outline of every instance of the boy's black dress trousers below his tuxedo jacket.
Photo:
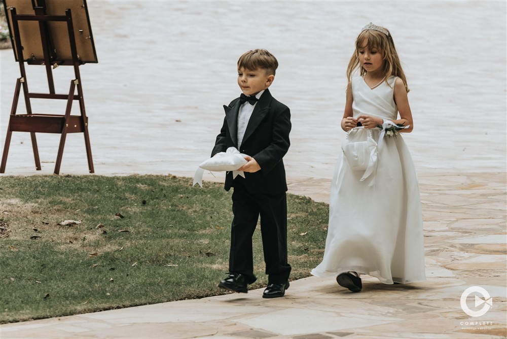
M 239 179 L 239 180 L 238 180 Z M 252 235 L 261 217 L 261 234 L 268 284 L 283 284 L 291 273 L 287 263 L 287 197 L 277 194 L 249 193 L 243 178 L 234 181 L 229 271 L 245 276 L 248 284 L 257 280 L 253 274 Z

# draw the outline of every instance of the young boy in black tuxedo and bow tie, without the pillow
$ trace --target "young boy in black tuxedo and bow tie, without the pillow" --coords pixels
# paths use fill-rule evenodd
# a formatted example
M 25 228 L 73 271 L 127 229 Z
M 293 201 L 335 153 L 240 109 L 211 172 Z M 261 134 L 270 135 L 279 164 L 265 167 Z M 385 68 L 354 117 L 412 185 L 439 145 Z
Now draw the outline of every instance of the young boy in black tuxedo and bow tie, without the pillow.
M 234 187 L 229 255 L 229 276 L 219 287 L 246 293 L 253 275 L 252 235 L 261 217 L 261 233 L 268 286 L 264 298 L 276 298 L 289 287 L 291 265 L 287 263 L 287 184 L 282 158 L 289 148 L 291 112 L 271 96 L 278 67 L 276 58 L 264 49 L 244 53 L 238 60 L 241 96 L 225 108 L 224 125 L 216 137 L 211 156 L 236 147 L 248 161 L 239 171 L 245 178 L 233 179 L 228 172 L 225 189 Z

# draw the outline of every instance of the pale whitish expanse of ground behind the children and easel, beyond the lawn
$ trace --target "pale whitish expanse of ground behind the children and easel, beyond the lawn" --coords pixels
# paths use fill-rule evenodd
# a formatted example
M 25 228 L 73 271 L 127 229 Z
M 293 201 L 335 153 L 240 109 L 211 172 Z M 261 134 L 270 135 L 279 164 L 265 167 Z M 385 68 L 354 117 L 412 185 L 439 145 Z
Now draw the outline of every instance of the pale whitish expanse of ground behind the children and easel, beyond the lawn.
M 408 77 L 415 129 L 404 138 L 418 172 L 506 169 L 505 2 L 89 0 L 88 7 L 99 63 L 80 70 L 97 174 L 192 175 L 209 156 L 222 105 L 240 93 L 239 55 L 266 48 L 280 63 L 270 90 L 292 111 L 289 177 L 331 178 L 345 137 L 346 67 L 370 21 L 389 28 Z M 19 68 L 10 49 L 0 60 L 3 149 Z M 71 69 L 54 74 L 57 90 L 68 92 Z M 43 67 L 28 67 L 27 78 L 31 91 L 47 91 Z M 63 114 L 61 103 L 40 101 L 35 113 Z M 43 173 L 52 173 L 59 135 L 38 141 Z M 61 168 L 87 172 L 80 134 L 67 138 Z M 14 133 L 7 173 L 34 172 L 29 134 Z

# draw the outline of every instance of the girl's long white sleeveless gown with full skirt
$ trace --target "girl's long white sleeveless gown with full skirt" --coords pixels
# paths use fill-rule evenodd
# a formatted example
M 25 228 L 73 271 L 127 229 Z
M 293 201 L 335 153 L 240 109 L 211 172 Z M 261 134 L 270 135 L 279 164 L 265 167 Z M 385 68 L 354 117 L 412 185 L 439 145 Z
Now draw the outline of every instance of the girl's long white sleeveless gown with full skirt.
M 393 86 L 395 77 L 388 79 Z M 393 88 L 385 82 L 370 89 L 361 77 L 352 80 L 354 118 L 361 114 L 395 120 Z M 372 130 L 378 143 L 380 129 Z M 358 133 L 366 139 L 367 130 Z M 317 277 L 354 271 L 382 283 L 426 280 L 421 200 L 414 163 L 402 135 L 385 135 L 376 173 L 359 181 L 344 156 L 336 165 L 329 204 L 329 227 Z

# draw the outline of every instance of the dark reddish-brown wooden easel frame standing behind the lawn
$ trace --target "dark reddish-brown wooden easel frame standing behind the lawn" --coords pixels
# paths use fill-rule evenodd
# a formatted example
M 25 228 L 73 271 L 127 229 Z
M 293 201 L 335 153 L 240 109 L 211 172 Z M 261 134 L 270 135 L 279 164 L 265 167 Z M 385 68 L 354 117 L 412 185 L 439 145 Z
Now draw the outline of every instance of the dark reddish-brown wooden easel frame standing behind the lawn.
M 4 4 L 6 1 L 4 1 Z M 10 17 L 10 30 L 13 41 L 13 48 L 17 61 L 19 62 L 19 70 L 21 77 L 16 81 L 14 90 L 14 100 L 12 103 L 11 115 L 9 125 L 7 127 L 7 137 L 5 140 L 4 153 L 2 156 L 2 164 L 0 165 L 0 173 L 5 173 L 7 163 L 7 155 L 9 153 L 9 146 L 11 143 L 12 132 L 29 132 L 33 148 L 33 156 L 35 159 L 35 168 L 41 169 L 41 161 L 39 159 L 39 150 L 37 148 L 37 139 L 35 133 L 60 133 L 60 145 L 58 147 L 58 155 L 56 157 L 55 174 L 59 174 L 60 165 L 63 155 L 63 147 L 65 145 L 65 138 L 67 133 L 84 133 L 86 155 L 88 158 L 88 169 L 90 173 L 94 173 L 93 160 L 90 147 L 90 138 L 88 136 L 88 118 L 85 113 L 85 101 L 83 98 L 83 89 L 81 87 L 81 77 L 79 73 L 79 65 L 84 63 L 78 55 L 75 39 L 75 31 L 73 25 L 73 18 L 70 9 L 65 10 L 65 15 L 47 15 L 45 0 L 37 0 L 33 4 L 33 15 L 17 14 L 16 8 L 6 8 L 9 11 Z M 85 5 L 83 5 L 85 6 Z M 20 35 L 20 22 L 32 21 L 39 24 L 40 42 L 42 43 L 43 57 L 36 58 L 32 54 L 32 59 L 25 60 L 23 57 L 23 44 L 22 35 Z M 53 46 L 53 37 L 49 30 L 50 22 L 66 22 L 68 32 L 68 42 L 70 43 L 71 58 L 62 58 L 56 55 L 56 49 Z M 82 30 L 80 30 L 82 32 Z M 61 32 L 59 32 L 61 33 Z M 33 37 L 31 37 L 33 38 Z M 28 83 L 26 80 L 26 72 L 24 62 L 27 64 L 41 64 L 46 67 L 48 77 L 49 93 L 32 93 L 28 91 Z M 59 65 L 72 65 L 74 67 L 75 79 L 70 81 L 70 88 L 68 94 L 56 94 L 55 85 L 53 81 L 52 67 L 56 68 Z M 25 98 L 26 114 L 16 114 L 19 93 L 23 88 Z M 75 94 L 77 87 L 78 94 Z M 67 100 L 67 106 L 64 115 L 56 114 L 36 114 L 32 113 L 30 99 L 61 99 Z M 81 115 L 70 115 L 70 110 L 74 100 L 79 101 Z

